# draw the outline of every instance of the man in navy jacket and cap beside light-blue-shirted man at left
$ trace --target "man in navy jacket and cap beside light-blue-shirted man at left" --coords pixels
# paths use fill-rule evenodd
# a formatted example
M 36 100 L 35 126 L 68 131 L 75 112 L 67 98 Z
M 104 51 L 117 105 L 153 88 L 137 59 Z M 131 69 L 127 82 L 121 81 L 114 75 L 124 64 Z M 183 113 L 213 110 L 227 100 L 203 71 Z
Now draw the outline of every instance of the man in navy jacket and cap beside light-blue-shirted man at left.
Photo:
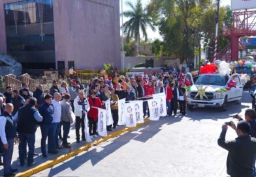
M 52 137 L 52 120 L 54 119 L 54 106 L 52 105 L 52 96 L 46 94 L 44 96 L 44 103 L 39 107 L 39 113 L 42 116 L 42 123 L 40 129 L 42 133 L 41 139 L 41 151 L 42 156 L 46 155 L 46 139 L 48 138 L 48 153 L 57 154 L 57 150 L 54 148 L 54 138 Z

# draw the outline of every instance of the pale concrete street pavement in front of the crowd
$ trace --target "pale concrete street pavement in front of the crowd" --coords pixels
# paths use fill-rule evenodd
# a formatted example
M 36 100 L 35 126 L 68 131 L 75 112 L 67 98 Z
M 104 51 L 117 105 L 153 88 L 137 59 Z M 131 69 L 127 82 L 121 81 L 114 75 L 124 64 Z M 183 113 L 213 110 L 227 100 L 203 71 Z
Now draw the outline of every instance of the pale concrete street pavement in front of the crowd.
M 226 112 L 200 108 L 187 111 L 187 116 L 161 118 L 33 176 L 227 176 L 227 151 L 217 145 L 221 125 L 231 121 L 232 115 L 244 116 L 248 108 L 251 108 L 251 98 L 244 90 L 242 104 L 229 103 Z M 74 126 L 70 135 L 69 142 L 74 149 L 86 144 L 75 143 Z M 229 128 L 227 140 L 235 137 L 236 133 Z M 35 146 L 35 151 L 40 153 L 40 129 Z M 67 149 L 61 150 L 48 159 L 67 152 Z M 46 161 L 41 156 L 35 160 Z M 18 165 L 17 146 L 13 161 L 20 171 L 27 169 Z M 1 168 L 0 176 L 3 175 Z

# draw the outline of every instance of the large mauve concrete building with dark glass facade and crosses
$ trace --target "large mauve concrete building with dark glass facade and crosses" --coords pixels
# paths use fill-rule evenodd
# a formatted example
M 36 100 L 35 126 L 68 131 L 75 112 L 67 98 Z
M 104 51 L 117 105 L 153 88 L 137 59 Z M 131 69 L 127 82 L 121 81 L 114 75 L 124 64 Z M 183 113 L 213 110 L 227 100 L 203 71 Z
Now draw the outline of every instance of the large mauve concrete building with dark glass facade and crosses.
M 1 0 L 0 53 L 24 69 L 120 68 L 120 0 Z

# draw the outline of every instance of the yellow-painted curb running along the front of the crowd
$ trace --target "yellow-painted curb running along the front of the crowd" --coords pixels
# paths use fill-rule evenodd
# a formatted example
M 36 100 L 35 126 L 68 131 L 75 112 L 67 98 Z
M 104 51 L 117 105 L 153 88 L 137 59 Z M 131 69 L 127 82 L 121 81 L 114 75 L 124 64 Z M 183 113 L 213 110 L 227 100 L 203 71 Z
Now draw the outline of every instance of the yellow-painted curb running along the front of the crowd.
M 74 157 L 74 156 L 80 154 L 81 152 L 84 152 L 84 151 L 88 150 L 92 146 L 97 146 L 98 144 L 103 143 L 104 141 L 107 141 L 108 139 L 112 139 L 112 138 L 120 135 L 121 133 L 131 131 L 133 129 L 139 128 L 140 126 L 144 126 L 145 124 L 148 124 L 148 123 L 150 123 L 150 119 L 144 120 L 144 123 L 137 124 L 136 127 L 133 127 L 133 128 L 119 129 L 118 131 L 115 131 L 114 133 L 111 133 L 107 137 L 102 137 L 100 139 L 97 139 L 97 140 L 93 141 L 93 143 L 88 143 L 85 146 L 82 146 L 82 147 L 78 148 L 77 150 L 69 152 L 68 154 L 63 154 L 59 157 L 56 157 L 55 159 L 50 159 L 50 160 L 48 160 L 44 163 L 41 163 L 40 165 L 37 165 L 37 167 L 34 167 L 32 169 L 29 169 L 29 170 L 25 170 L 24 172 L 19 172 L 18 174 L 16 174 L 16 176 L 17 177 L 24 177 L 24 176 L 31 176 L 33 174 L 36 174 L 37 172 L 40 172 L 44 169 L 48 169 L 50 167 L 53 167 L 54 165 L 57 165 L 58 163 L 61 163 L 61 162 L 65 161 L 65 160 L 67 160 L 71 157 Z

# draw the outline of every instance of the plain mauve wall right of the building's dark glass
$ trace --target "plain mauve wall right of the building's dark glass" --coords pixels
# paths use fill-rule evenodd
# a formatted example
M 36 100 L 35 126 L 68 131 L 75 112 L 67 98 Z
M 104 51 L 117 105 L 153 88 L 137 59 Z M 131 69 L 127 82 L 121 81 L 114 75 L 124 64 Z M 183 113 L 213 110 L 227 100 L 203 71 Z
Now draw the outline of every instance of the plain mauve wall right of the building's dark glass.
M 103 68 L 114 62 L 120 68 L 119 0 L 54 1 L 57 61 L 74 61 L 75 69 Z

